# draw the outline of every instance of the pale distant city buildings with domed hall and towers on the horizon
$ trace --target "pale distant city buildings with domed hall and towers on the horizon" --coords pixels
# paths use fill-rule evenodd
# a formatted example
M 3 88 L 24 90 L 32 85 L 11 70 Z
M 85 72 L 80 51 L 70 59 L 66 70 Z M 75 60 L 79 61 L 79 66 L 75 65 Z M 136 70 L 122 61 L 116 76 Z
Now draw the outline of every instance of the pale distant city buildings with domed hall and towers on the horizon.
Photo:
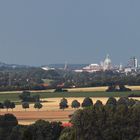
M 55 70 L 56 68 L 50 68 L 48 66 L 42 67 L 44 70 Z M 67 63 L 65 63 L 64 67 L 62 68 L 57 68 L 61 70 L 70 70 L 69 66 Z M 89 73 L 94 73 L 94 72 L 99 72 L 99 71 L 116 71 L 120 73 L 136 73 L 140 71 L 140 67 L 138 64 L 138 59 L 136 57 L 131 57 L 130 60 L 128 61 L 128 64 L 126 66 L 123 66 L 122 64 L 120 65 L 113 65 L 112 60 L 109 55 L 106 55 L 105 59 L 100 63 L 100 64 L 90 64 L 87 66 L 84 66 L 83 68 L 80 69 L 74 69 L 75 72 L 89 72 Z

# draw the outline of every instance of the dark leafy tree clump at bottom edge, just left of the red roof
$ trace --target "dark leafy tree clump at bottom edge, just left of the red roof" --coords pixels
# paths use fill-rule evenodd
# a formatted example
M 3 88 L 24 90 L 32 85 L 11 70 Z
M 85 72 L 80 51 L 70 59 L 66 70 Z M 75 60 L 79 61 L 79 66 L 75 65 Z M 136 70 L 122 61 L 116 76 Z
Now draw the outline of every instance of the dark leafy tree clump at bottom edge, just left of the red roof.
M 28 126 L 24 132 L 23 140 L 57 140 L 62 131 L 60 122 L 38 120 Z

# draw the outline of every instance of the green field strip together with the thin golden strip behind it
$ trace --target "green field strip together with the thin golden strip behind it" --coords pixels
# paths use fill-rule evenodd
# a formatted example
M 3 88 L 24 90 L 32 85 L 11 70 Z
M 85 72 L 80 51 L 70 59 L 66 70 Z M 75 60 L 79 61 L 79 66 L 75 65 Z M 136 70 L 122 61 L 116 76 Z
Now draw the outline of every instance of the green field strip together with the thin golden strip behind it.
M 57 97 L 121 97 L 129 94 L 140 94 L 140 86 L 126 86 L 132 89 L 131 92 L 105 92 L 107 87 L 89 87 L 89 88 L 72 88 L 69 92 L 54 93 L 54 90 L 31 91 L 32 94 L 39 94 L 41 98 L 57 98 Z M 19 94 L 22 91 L 0 92 L 0 102 L 9 99 L 14 102 L 19 101 Z

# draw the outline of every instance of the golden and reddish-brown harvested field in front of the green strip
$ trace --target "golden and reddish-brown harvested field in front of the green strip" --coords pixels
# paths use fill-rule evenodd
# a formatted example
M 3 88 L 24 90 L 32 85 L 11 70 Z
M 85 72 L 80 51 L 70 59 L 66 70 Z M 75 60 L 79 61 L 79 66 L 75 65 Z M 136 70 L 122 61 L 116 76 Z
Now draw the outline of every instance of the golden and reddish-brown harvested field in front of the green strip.
M 37 111 L 34 109 L 34 105 L 30 104 L 30 108 L 27 109 L 27 111 L 24 111 L 21 105 L 17 105 L 14 111 L 12 112 L 9 110 L 8 112 L 4 109 L 0 112 L 0 114 L 5 113 L 12 113 L 14 114 L 20 124 L 31 124 L 37 121 L 38 119 L 44 119 L 48 121 L 61 121 L 61 122 L 68 122 L 69 121 L 69 115 L 72 114 L 75 109 L 71 108 L 71 103 L 73 100 L 78 100 L 80 103 L 83 102 L 83 97 L 78 98 L 66 98 L 68 100 L 69 108 L 63 110 L 59 109 L 59 103 L 62 98 L 47 98 L 43 99 L 47 102 L 43 103 L 43 108 L 40 109 L 40 111 Z M 118 99 L 118 98 L 116 98 Z M 133 98 L 140 100 L 140 98 Z M 108 97 L 94 97 L 92 98 L 93 103 L 95 103 L 97 100 L 102 101 L 103 104 L 106 103 L 108 100 Z

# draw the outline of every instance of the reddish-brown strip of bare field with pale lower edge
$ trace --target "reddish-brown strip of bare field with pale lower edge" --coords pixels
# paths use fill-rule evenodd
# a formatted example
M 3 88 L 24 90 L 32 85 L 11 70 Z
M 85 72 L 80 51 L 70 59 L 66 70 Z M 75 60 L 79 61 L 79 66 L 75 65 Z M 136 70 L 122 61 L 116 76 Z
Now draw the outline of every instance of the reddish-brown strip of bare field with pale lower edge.
M 74 110 L 57 110 L 57 111 L 13 111 L 8 112 L 14 114 L 19 124 L 31 124 L 39 119 L 48 120 L 48 121 L 69 121 L 69 115 L 72 114 Z M 0 114 L 5 114 L 1 112 Z

